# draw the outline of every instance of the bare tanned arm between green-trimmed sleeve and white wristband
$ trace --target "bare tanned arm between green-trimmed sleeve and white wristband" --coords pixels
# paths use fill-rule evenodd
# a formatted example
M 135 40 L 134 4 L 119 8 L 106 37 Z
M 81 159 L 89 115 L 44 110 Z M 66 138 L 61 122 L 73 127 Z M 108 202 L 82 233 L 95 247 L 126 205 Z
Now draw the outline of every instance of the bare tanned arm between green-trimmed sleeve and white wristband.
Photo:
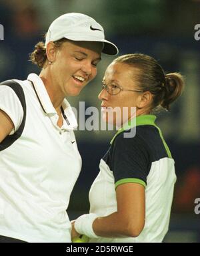
M 117 186 L 117 212 L 99 217 L 93 231 L 101 237 L 137 237 L 145 225 L 145 188 L 141 184 Z

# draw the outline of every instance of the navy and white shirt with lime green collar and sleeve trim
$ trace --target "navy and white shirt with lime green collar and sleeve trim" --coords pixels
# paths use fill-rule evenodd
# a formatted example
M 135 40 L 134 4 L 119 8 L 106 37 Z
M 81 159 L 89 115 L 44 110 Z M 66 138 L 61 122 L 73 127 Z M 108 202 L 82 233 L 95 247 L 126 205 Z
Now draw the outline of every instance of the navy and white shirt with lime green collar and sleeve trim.
M 169 226 L 176 175 L 174 160 L 155 119 L 153 115 L 138 116 L 117 132 L 101 159 L 100 172 L 89 193 L 90 212 L 107 216 L 117 211 L 117 186 L 125 183 L 144 186 L 146 218 L 143 231 L 135 238 L 99 238 L 92 239 L 93 242 L 163 240 Z M 129 129 L 136 129 L 135 136 L 125 138 Z

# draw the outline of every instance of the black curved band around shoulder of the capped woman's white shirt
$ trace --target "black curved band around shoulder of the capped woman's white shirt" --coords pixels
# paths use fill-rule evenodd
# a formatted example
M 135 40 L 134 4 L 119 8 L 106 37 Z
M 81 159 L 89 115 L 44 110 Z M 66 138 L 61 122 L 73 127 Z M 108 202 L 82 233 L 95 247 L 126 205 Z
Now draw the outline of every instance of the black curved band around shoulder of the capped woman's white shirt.
M 19 129 L 12 135 L 7 136 L 1 143 L 0 143 L 0 151 L 4 150 L 5 148 L 8 148 L 17 140 L 24 129 L 25 126 L 25 120 L 26 120 L 26 115 L 27 115 L 27 106 L 25 102 L 25 94 L 23 92 L 23 88 L 21 85 L 13 80 L 7 80 L 5 82 L 1 82 L 0 86 L 9 86 L 10 88 L 13 89 L 15 94 L 17 94 L 17 97 L 19 98 L 21 102 L 21 106 L 23 108 L 23 120 L 21 122 L 21 125 L 19 126 Z

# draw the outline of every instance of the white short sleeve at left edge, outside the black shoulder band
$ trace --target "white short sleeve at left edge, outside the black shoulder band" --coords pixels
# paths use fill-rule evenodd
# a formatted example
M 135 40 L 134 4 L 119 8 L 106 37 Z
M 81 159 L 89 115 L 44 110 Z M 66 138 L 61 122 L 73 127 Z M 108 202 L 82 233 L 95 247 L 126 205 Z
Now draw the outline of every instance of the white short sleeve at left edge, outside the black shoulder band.
M 16 132 L 23 120 L 23 107 L 21 102 L 15 94 L 14 90 L 9 86 L 0 86 L 0 109 L 3 110 L 9 118 L 11 118 L 15 129 L 11 134 Z

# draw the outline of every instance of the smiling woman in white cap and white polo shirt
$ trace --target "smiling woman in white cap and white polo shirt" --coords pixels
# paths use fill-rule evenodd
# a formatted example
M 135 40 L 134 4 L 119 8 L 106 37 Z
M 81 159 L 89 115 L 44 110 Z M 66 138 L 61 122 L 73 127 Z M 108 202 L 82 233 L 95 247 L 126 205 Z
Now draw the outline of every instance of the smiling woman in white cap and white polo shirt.
M 39 76 L 1 83 L 0 242 L 71 242 L 66 209 L 81 157 L 65 97 L 77 96 L 95 78 L 101 52 L 118 52 L 103 27 L 67 13 L 31 53 Z

